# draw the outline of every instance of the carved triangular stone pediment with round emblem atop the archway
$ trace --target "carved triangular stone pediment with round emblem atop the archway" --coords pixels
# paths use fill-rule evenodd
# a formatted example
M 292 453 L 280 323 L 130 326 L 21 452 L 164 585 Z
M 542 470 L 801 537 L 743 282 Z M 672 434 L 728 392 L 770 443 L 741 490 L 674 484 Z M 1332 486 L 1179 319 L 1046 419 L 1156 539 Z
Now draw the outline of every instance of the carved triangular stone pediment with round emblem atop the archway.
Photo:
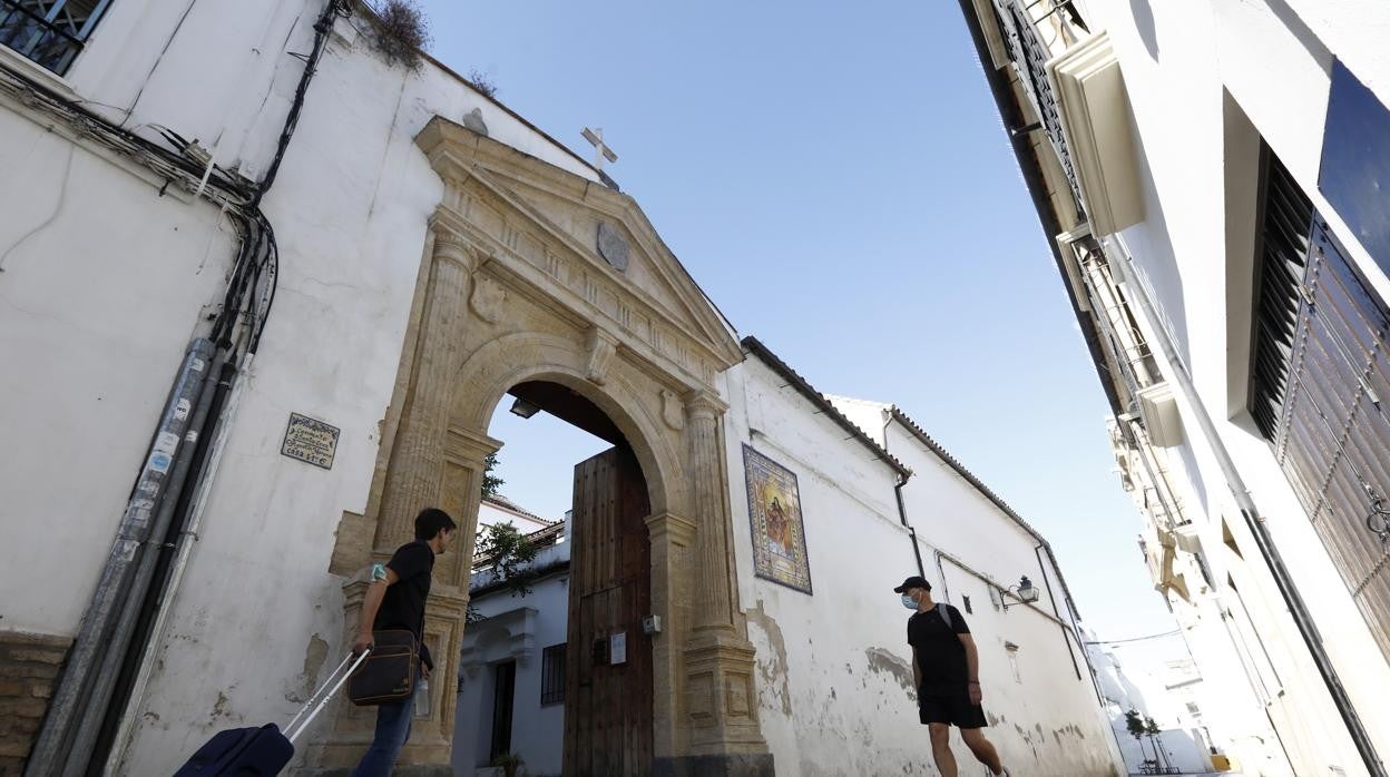
M 710 385 L 742 359 L 730 327 L 632 197 L 439 117 L 416 143 L 446 185 L 436 218 L 484 246 L 503 282 L 531 285 L 542 293 L 527 296 L 564 306 L 612 334 L 624 357 L 687 386 Z M 598 357 L 605 367 L 606 345 Z

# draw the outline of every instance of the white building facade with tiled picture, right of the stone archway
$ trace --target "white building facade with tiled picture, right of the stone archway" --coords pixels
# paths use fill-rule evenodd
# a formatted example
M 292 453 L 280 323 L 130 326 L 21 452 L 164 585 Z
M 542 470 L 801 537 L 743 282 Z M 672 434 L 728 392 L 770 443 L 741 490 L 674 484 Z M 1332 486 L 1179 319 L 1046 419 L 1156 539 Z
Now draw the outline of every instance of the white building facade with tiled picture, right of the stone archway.
M 756 339 L 744 349 L 748 359 L 727 374 L 727 466 L 746 474 L 766 459 L 794 475 L 810 573 L 798 589 L 759 567 L 769 539 L 751 514 L 758 498 L 735 493 L 738 581 L 777 773 L 934 773 L 915 706 L 909 613 L 892 592 L 920 573 L 970 624 L 987 734 L 1005 764 L 1015 774 L 1119 774 L 1045 541 L 897 407 L 826 398 Z M 1022 577 L 1041 591 L 1037 602 L 1019 602 Z M 954 748 L 969 773 L 958 737 Z

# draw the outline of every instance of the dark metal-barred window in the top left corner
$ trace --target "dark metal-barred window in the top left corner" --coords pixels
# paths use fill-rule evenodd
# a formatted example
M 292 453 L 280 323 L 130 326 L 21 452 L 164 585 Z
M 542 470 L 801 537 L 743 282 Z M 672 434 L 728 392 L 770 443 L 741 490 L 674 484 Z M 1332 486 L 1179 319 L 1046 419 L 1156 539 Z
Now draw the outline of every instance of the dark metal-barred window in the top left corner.
M 63 75 L 111 0 L 0 0 L 0 44 Z

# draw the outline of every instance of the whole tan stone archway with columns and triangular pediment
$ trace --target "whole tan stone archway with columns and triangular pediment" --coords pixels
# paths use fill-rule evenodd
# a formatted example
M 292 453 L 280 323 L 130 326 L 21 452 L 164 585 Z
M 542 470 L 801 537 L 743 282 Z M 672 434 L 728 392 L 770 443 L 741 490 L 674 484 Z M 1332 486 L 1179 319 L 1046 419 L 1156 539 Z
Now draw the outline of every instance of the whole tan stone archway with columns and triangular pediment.
M 753 649 L 730 545 L 719 374 L 742 359 L 731 332 L 637 204 L 588 179 L 435 118 L 416 139 L 445 183 L 357 538 L 384 557 L 421 506 L 467 538 L 435 566 L 425 639 L 439 688 L 457 678 L 486 435 L 505 392 L 549 381 L 620 428 L 646 477 L 652 514 L 656 774 L 771 774 L 758 721 Z M 345 520 L 348 523 L 348 520 Z M 371 559 L 335 552 L 335 571 Z M 366 545 L 366 543 L 364 543 Z M 345 587 L 356 623 L 361 584 Z M 432 682 L 434 685 L 434 682 Z M 400 760 L 449 773 L 455 699 L 435 694 Z M 346 710 L 316 753 L 352 763 L 370 716 Z

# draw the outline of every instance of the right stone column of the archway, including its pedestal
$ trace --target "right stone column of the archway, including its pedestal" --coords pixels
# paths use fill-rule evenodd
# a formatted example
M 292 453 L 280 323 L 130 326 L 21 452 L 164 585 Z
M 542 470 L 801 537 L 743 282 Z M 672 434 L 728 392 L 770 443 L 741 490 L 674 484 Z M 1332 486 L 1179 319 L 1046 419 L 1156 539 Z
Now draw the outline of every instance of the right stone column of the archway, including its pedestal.
M 753 646 L 738 606 L 728 477 L 714 393 L 685 398 L 687 474 L 695 524 L 691 632 L 685 648 L 684 758 L 656 763 L 656 774 L 770 776 L 771 755 L 758 721 Z

